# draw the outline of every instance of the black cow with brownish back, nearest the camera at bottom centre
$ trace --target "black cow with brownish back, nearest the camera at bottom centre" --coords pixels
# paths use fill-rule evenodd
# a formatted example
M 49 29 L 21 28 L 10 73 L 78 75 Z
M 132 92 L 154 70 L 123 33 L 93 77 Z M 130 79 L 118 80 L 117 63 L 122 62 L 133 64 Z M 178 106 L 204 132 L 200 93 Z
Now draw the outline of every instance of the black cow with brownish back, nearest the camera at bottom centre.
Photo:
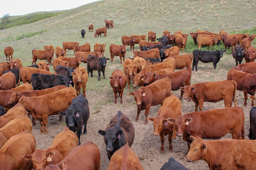
M 98 133 L 103 136 L 109 160 L 126 143 L 131 147 L 134 140 L 133 124 L 121 111 L 114 115 L 105 131 L 99 130 Z

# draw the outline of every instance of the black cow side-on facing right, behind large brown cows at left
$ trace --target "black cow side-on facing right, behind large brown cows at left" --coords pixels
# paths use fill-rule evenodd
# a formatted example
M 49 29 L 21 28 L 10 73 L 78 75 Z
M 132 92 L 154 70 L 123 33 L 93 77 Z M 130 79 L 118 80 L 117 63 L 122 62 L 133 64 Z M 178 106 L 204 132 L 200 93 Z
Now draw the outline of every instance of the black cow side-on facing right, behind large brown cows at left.
M 71 83 L 73 79 L 70 79 L 63 75 L 33 73 L 31 76 L 31 81 L 33 90 L 42 90 L 58 85 L 65 85 L 69 87 L 69 83 Z

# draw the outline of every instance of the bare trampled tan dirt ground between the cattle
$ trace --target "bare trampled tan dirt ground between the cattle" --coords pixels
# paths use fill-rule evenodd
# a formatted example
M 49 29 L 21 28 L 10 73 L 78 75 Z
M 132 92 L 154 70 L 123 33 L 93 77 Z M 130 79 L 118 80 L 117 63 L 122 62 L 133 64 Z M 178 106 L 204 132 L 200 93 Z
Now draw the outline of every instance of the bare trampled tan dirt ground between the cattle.
M 218 81 L 218 80 L 226 80 L 226 75 L 228 70 L 234 65 L 234 59 L 230 58 L 230 55 L 224 56 L 222 60 L 217 64 L 218 72 L 213 70 L 212 63 L 203 64 L 199 62 L 198 64 L 198 72 L 192 72 L 191 84 L 203 82 L 203 81 Z M 114 65 L 119 63 L 119 57 L 115 58 L 114 63 L 107 63 L 107 68 L 114 68 Z M 219 65 L 219 67 L 218 67 Z M 106 69 L 107 69 L 106 68 Z M 95 77 L 93 79 L 97 79 L 97 74 L 94 72 Z M 108 79 L 110 75 L 106 75 Z M 90 83 L 91 77 L 89 77 Z M 109 80 L 108 85 L 109 85 Z M 97 88 L 101 88 L 98 86 Z M 138 88 L 137 88 L 138 89 Z M 135 138 L 131 149 L 137 154 L 140 159 L 140 162 L 145 170 L 149 169 L 160 169 L 161 166 L 168 161 L 170 157 L 174 157 L 178 162 L 186 166 L 186 168 L 190 170 L 207 170 L 208 165 L 203 160 L 199 160 L 197 164 L 188 163 L 185 161 L 184 157 L 187 152 L 187 142 L 183 141 L 182 138 L 177 137 L 172 141 L 173 151 L 169 152 L 169 142 L 167 140 L 167 136 L 165 137 L 165 152 L 160 153 L 160 137 L 153 135 L 153 124 L 149 121 L 148 124 L 144 124 L 145 116 L 144 111 L 140 113 L 138 123 L 134 122 L 135 116 L 137 114 L 137 106 L 134 102 L 134 97 L 129 96 L 128 92 L 133 91 L 128 90 L 127 87 L 124 91 L 123 103 L 120 104 L 120 98 L 117 100 L 117 104 L 114 103 L 114 95 L 109 85 L 108 92 L 106 93 L 97 93 L 97 91 L 88 91 L 86 90 L 86 98 L 89 101 L 90 107 L 90 118 L 87 123 L 87 134 L 82 135 L 80 140 L 81 143 L 92 141 L 94 142 L 101 153 L 101 170 L 106 170 L 109 164 L 109 160 L 107 157 L 107 152 L 105 151 L 106 146 L 103 141 L 103 136 L 98 134 L 98 130 L 105 130 L 107 124 L 111 120 L 111 118 L 117 114 L 120 110 L 124 114 L 126 114 L 130 120 L 132 121 L 135 128 Z M 174 91 L 174 94 L 177 97 L 180 97 L 180 91 Z M 236 98 L 238 102 L 238 106 L 244 108 L 242 104 L 244 103 L 244 95 L 241 91 L 237 91 Z M 108 101 L 108 102 L 106 102 Z M 102 105 L 99 106 L 99 103 L 102 102 Z M 249 134 L 249 112 L 251 109 L 251 101 L 248 100 L 247 108 L 244 108 L 245 113 L 245 138 L 248 138 Z M 223 101 L 217 103 L 204 102 L 203 110 L 209 110 L 214 108 L 222 108 L 224 107 Z M 160 105 L 151 106 L 149 117 L 155 117 Z M 194 102 L 188 102 L 183 98 L 182 100 L 182 114 L 193 112 L 194 111 Z M 43 135 L 39 134 L 40 124 L 37 121 L 36 126 L 33 126 L 33 135 L 36 137 L 36 148 L 47 148 L 53 141 L 53 138 L 60 133 L 65 127 L 65 117 L 62 121 L 58 121 L 59 116 L 54 115 L 50 116 L 48 119 L 48 134 Z M 224 138 L 231 138 L 231 134 L 227 134 Z

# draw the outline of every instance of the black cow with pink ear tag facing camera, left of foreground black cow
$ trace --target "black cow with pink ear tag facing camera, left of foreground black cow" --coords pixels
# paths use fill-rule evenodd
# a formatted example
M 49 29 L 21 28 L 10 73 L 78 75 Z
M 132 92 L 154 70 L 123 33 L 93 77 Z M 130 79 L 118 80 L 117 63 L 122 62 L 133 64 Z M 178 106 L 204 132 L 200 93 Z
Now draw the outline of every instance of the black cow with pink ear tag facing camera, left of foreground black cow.
M 82 134 L 82 126 L 84 125 L 84 133 L 87 133 L 86 125 L 90 117 L 90 108 L 88 105 L 88 100 L 80 94 L 78 97 L 73 98 L 70 106 L 65 110 L 65 112 L 59 112 L 60 115 L 65 116 L 66 126 L 69 130 L 76 132 L 78 137 L 79 145 L 80 135 Z

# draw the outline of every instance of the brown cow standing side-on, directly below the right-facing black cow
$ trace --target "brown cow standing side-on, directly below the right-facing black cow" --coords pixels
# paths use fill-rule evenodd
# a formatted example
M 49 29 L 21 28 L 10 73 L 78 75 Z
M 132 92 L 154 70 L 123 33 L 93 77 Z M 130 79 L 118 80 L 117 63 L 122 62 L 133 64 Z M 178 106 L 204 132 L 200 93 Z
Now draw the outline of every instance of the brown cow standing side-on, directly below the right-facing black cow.
M 200 112 L 203 110 L 203 102 L 218 102 L 224 100 L 225 107 L 231 107 L 232 101 L 236 103 L 236 81 L 223 80 L 192 84 L 191 86 L 180 87 L 184 91 L 184 98 L 191 97 L 195 103 L 195 112 L 197 112 L 198 104 Z

